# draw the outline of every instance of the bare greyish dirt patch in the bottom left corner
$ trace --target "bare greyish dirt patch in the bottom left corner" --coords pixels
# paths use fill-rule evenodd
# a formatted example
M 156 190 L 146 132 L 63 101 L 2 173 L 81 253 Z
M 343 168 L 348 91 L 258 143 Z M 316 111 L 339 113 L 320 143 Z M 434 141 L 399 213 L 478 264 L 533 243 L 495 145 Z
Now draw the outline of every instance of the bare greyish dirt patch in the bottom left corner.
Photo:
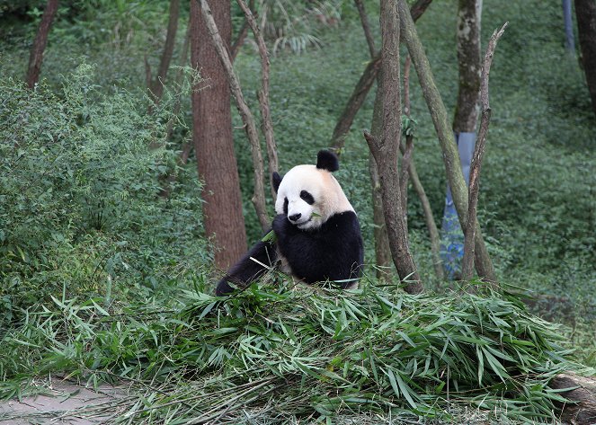
M 0 402 L 0 424 L 111 423 L 119 402 L 128 397 L 125 387 L 102 385 L 95 391 L 57 378 L 44 385 L 43 393 Z

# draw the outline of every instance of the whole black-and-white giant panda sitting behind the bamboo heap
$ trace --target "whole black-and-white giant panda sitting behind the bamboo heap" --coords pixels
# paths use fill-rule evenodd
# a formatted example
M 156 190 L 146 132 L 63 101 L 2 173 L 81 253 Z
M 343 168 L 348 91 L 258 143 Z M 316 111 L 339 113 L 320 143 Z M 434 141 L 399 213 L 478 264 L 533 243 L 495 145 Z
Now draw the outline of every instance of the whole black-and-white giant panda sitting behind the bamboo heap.
M 216 295 L 246 288 L 278 261 L 282 271 L 309 284 L 332 280 L 342 288 L 356 286 L 363 263 L 360 223 L 331 174 L 337 170 L 337 156 L 322 150 L 316 165 L 297 165 L 283 177 L 272 174 L 274 237 L 255 243 L 218 282 Z

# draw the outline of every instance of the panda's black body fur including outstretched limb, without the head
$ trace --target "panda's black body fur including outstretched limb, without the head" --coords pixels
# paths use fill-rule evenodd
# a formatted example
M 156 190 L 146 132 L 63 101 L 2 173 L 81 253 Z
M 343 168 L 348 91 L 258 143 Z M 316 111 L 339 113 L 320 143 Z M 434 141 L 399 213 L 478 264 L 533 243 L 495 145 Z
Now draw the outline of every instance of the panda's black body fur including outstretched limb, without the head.
M 280 214 L 273 219 L 273 231 L 277 242 L 254 244 L 219 281 L 216 295 L 234 291 L 228 282 L 245 288 L 259 279 L 267 269 L 250 257 L 269 267 L 277 260 L 276 248 L 288 260 L 292 274 L 307 283 L 360 278 L 364 250 L 358 217 L 352 211 L 335 214 L 315 230 L 300 230 L 289 222 L 288 217 Z M 352 283 L 339 282 L 342 288 Z

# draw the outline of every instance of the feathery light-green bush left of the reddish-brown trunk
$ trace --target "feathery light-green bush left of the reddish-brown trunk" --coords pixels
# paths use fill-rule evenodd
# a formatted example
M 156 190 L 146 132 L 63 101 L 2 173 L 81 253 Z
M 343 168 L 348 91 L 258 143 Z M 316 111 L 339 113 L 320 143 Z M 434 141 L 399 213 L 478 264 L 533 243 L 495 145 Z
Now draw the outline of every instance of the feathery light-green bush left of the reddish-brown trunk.
M 0 84 L 0 328 L 62 288 L 134 298 L 209 259 L 197 180 L 157 196 L 171 117 L 92 81 L 79 66 L 62 97 Z

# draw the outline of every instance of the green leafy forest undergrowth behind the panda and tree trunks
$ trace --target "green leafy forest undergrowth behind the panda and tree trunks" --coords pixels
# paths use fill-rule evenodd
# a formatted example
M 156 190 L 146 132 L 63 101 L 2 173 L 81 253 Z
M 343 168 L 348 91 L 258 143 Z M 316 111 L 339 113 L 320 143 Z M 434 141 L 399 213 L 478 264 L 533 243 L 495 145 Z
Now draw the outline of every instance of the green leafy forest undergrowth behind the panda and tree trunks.
M 268 25 L 282 30 L 271 31 L 267 42 L 271 116 L 280 170 L 287 171 L 312 164 L 329 146 L 369 49 L 350 1 L 265 3 L 271 4 Z M 378 4 L 364 3 L 378 38 Z M 449 114 L 458 90 L 457 3 L 435 1 L 416 23 Z M 179 161 L 191 140 L 197 75 L 174 66 L 162 102 L 147 111 L 147 64 L 158 66 L 169 2 L 60 2 L 40 84 L 30 91 L 23 81 L 44 5 L 0 1 L 0 329 L 17 329 L 30 320 L 26 311 L 52 299 L 101 297 L 114 309 L 135 303 L 169 309 L 179 305 L 183 290 L 212 291 L 221 270 L 213 268 L 213 247 L 204 235 L 194 151 L 187 164 Z M 180 64 L 188 18 L 182 2 L 172 64 Z M 233 2 L 233 38 L 243 22 Z M 565 49 L 560 2 L 485 0 L 483 46 L 503 22 L 509 27 L 491 70 L 493 114 L 478 220 L 498 279 L 527 292 L 532 311 L 564 323 L 578 359 L 596 367 L 596 120 L 590 94 L 577 54 Z M 251 35 L 235 68 L 258 111 L 260 60 Z M 176 74 L 182 75 L 178 81 Z M 412 74 L 414 161 L 440 223 L 444 167 Z M 373 101 L 374 88 L 336 173 L 359 214 L 372 280 L 369 151 L 361 130 L 370 128 Z M 247 241 L 253 243 L 261 237 L 250 200 L 253 163 L 236 110 L 233 122 Z M 169 123 L 173 137 L 164 145 Z M 158 195 L 164 176 L 173 176 L 167 197 Z M 454 284 L 435 278 L 414 191 L 408 202 L 415 262 L 426 288 L 442 294 Z M 272 214 L 271 199 L 268 207 Z M 0 376 L 31 373 L 43 357 L 17 359 L 19 350 L 18 343 L 3 344 Z M 4 390 L 9 394 L 13 386 Z

